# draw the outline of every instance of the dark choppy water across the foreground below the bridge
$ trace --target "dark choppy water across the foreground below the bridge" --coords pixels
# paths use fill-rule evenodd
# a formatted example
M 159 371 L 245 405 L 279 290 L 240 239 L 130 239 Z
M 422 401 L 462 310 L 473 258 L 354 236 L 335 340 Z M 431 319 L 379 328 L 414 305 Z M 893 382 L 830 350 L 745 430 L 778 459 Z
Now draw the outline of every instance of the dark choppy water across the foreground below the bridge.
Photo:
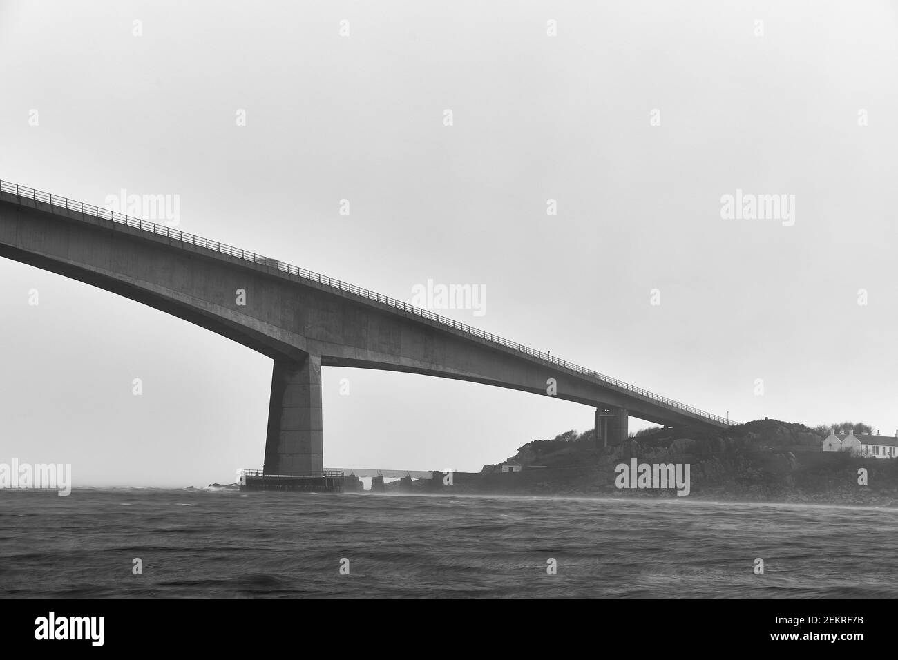
M 896 532 L 894 509 L 684 498 L 5 491 L 0 595 L 896 597 Z

